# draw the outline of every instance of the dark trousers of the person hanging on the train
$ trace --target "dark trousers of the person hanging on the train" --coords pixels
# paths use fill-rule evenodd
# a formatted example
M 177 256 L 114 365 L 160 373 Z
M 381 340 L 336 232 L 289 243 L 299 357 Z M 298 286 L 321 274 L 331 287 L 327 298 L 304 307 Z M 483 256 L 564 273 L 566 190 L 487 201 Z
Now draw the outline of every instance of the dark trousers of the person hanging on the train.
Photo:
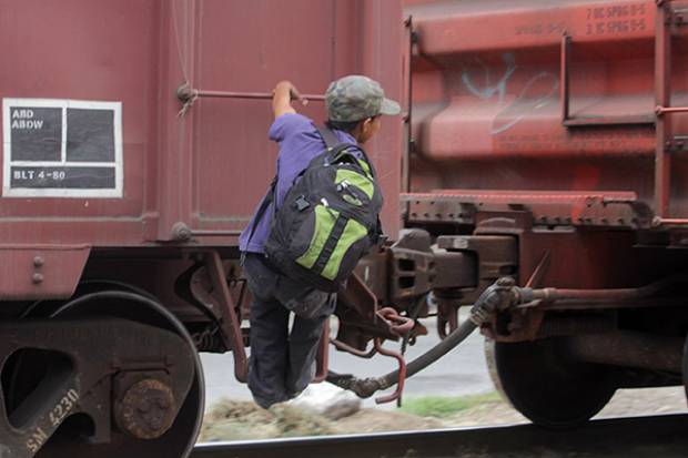
M 313 379 L 317 344 L 335 301 L 276 273 L 260 254 L 246 253 L 244 275 L 253 294 L 249 388 L 256 404 L 267 408 L 293 398 Z M 291 333 L 290 311 L 299 312 Z

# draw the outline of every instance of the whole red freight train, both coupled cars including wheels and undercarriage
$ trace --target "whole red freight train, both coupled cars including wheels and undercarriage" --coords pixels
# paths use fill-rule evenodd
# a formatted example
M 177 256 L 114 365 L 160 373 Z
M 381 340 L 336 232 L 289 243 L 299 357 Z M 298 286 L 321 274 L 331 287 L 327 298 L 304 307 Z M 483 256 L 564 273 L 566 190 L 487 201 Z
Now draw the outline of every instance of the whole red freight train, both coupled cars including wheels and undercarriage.
M 184 456 L 198 352 L 232 352 L 245 379 L 236 242 L 274 172 L 281 79 L 317 95 L 365 73 L 405 108 L 368 147 L 391 241 L 341 291 L 320 380 L 394 399 L 479 327 L 498 386 L 545 426 L 680 385 L 685 9 L 0 0 L 0 455 Z M 406 365 L 431 315 L 443 340 Z M 398 370 L 336 374 L 328 343 Z

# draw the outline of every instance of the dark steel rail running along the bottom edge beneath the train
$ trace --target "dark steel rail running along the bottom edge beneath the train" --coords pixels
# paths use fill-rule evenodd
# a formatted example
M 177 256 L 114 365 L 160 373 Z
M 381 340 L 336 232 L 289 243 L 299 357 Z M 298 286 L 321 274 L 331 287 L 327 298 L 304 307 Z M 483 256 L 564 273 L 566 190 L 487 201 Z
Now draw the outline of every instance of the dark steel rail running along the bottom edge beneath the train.
M 192 458 L 685 458 L 688 415 L 590 421 L 568 431 L 533 425 L 200 444 Z

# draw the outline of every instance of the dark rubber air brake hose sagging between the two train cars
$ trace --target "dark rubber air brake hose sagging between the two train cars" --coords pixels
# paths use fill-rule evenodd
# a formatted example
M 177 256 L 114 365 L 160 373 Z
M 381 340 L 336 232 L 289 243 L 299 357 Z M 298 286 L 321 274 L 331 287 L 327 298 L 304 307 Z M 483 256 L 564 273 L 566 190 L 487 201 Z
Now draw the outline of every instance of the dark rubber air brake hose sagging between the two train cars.
M 406 365 L 406 378 L 419 373 L 437 359 L 449 353 L 464 342 L 477 327 L 488 323 L 493 313 L 505 309 L 512 304 L 514 295 L 512 289 L 515 283 L 513 278 L 499 278 L 480 294 L 471 308 L 471 318 L 462 323 L 444 340 L 418 356 Z M 380 389 L 386 389 L 399 380 L 398 370 L 393 370 L 382 377 L 356 378 L 348 374 L 327 373 L 327 381 L 341 388 L 354 391 L 361 398 L 373 396 Z

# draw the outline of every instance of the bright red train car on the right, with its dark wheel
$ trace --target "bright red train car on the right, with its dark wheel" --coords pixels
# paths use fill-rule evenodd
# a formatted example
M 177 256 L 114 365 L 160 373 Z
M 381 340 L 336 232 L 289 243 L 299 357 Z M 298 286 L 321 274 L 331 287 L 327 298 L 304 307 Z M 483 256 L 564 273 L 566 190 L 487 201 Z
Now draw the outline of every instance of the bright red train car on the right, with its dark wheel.
M 585 420 L 620 387 L 681 384 L 687 8 L 406 1 L 405 222 L 471 258 L 458 272 L 472 275 L 434 288 L 445 326 L 499 276 L 540 288 L 484 325 L 496 381 L 536 423 Z

